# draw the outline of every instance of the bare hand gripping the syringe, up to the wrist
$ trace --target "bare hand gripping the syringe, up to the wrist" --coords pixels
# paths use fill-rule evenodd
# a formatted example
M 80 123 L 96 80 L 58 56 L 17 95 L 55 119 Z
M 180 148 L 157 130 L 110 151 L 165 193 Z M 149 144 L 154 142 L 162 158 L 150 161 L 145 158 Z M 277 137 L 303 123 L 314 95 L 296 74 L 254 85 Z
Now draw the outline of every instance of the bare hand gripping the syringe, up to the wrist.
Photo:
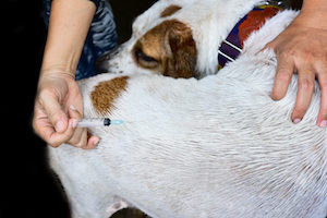
M 33 128 L 49 145 L 68 143 L 94 148 L 97 136 L 88 137 L 86 129 L 76 129 L 83 117 L 83 101 L 75 80 L 68 73 L 47 73 L 40 77 L 35 100 Z

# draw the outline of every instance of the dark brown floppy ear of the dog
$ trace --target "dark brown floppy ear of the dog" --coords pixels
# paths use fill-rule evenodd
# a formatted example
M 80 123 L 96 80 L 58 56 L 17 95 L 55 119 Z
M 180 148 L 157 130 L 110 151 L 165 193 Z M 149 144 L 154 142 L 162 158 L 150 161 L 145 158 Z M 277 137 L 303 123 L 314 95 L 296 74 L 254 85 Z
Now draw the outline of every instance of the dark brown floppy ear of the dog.
M 172 20 L 166 21 L 167 32 L 165 50 L 167 56 L 164 75 L 172 77 L 198 77 L 196 73 L 196 45 L 192 31 L 185 24 Z

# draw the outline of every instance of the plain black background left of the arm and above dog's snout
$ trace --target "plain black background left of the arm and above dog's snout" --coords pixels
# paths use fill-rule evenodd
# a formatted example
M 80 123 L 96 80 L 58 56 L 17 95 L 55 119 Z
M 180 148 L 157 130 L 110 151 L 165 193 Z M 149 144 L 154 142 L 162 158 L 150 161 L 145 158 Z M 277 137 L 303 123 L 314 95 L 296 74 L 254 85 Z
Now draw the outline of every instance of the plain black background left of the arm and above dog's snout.
M 154 0 L 111 0 L 119 43 Z M 43 0 L 1 2 L 0 218 L 65 218 L 68 206 L 47 166 L 46 144 L 32 130 L 46 28 Z M 4 39 L 3 39 L 4 38 Z

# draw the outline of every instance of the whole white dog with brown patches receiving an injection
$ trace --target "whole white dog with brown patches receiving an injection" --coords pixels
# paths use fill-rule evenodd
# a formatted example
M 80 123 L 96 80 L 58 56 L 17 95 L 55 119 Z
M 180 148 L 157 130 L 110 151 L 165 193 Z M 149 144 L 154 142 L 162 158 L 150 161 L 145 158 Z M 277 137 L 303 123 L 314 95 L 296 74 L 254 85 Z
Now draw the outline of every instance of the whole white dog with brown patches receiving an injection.
M 318 84 L 299 124 L 290 119 L 296 75 L 282 100 L 269 97 L 277 63 L 263 48 L 298 12 L 267 20 L 218 71 L 222 41 L 262 4 L 158 1 L 105 61 L 111 73 L 80 82 L 85 117 L 124 123 L 89 129 L 101 138 L 95 149 L 49 147 L 73 218 L 110 217 L 125 207 L 154 218 L 327 215 Z

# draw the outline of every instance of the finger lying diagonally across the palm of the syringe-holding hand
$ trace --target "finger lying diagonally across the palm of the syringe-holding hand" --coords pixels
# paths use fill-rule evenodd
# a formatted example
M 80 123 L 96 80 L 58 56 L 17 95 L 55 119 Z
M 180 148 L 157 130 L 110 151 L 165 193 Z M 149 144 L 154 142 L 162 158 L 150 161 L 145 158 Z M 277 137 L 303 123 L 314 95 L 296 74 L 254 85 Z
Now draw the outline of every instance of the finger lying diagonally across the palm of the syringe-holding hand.
M 45 90 L 40 94 L 39 101 L 56 132 L 63 133 L 68 128 L 69 121 L 56 95 Z

